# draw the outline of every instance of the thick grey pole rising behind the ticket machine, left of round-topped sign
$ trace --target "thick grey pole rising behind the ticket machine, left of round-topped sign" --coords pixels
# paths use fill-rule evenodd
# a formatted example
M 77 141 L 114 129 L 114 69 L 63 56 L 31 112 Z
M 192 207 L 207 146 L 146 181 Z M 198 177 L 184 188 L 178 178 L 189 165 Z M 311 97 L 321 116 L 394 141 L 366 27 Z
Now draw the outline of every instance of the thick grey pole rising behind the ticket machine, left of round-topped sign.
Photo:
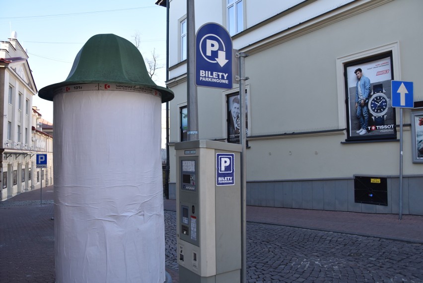
M 195 8 L 187 0 L 187 110 L 188 140 L 198 140 L 198 101 L 195 85 Z

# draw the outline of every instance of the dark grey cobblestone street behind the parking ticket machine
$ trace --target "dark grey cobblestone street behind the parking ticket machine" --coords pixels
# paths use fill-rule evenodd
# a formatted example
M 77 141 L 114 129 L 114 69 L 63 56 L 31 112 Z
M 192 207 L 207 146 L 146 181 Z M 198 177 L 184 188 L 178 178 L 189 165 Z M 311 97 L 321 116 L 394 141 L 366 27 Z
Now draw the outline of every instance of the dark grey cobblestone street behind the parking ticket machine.
M 176 263 L 176 213 L 165 211 L 166 265 Z M 423 245 L 247 223 L 249 283 L 423 282 Z

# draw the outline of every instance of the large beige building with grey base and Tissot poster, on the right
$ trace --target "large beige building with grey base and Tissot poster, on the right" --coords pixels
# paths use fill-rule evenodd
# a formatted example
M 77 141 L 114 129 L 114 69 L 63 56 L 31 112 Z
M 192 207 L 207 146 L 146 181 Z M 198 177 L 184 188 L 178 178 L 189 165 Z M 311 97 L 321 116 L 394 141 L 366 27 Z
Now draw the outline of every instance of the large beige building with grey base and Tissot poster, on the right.
M 174 144 L 188 139 L 186 58 L 194 53 L 186 49 L 186 1 L 167 3 L 174 198 Z M 422 10 L 419 0 L 195 1 L 196 31 L 218 23 L 248 54 L 248 205 L 423 215 L 423 31 L 414 28 Z M 414 82 L 402 163 L 393 80 Z M 199 138 L 239 142 L 238 85 L 197 91 Z

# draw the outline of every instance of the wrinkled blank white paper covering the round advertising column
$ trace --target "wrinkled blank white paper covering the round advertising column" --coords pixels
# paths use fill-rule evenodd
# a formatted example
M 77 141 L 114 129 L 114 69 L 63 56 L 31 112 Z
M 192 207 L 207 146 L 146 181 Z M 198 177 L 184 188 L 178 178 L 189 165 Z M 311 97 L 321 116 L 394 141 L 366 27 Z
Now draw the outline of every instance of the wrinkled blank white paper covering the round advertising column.
M 161 99 L 54 96 L 56 283 L 163 283 Z

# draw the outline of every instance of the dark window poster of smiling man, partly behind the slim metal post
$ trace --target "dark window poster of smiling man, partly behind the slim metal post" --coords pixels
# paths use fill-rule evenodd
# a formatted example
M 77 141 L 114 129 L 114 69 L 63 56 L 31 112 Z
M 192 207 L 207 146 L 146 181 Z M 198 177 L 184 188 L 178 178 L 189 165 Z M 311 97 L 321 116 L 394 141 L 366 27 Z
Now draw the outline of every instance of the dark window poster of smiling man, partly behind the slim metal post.
M 239 133 L 240 133 L 240 120 L 239 115 L 241 113 L 239 108 L 239 93 L 227 95 L 227 141 L 229 143 L 239 144 Z M 248 102 L 247 94 L 245 94 L 245 133 L 248 136 Z

